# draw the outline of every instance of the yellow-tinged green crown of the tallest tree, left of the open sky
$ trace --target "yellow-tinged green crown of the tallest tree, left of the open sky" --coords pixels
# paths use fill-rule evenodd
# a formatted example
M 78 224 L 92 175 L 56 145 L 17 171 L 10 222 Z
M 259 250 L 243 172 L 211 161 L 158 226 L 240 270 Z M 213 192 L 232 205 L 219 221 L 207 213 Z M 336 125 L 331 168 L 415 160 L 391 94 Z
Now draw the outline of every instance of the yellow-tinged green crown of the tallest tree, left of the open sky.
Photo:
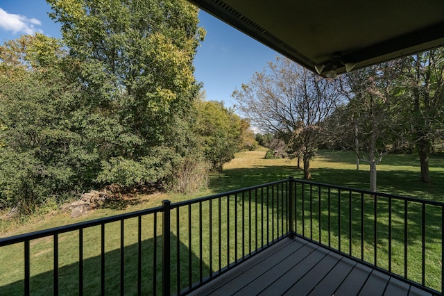
M 204 33 L 197 9 L 185 1 L 49 2 L 71 55 L 83 62 L 87 103 L 116 118 L 115 131 L 102 137 L 119 143 L 114 156 L 138 161 L 176 142 L 169 129 L 180 127 L 198 91 L 192 59 Z

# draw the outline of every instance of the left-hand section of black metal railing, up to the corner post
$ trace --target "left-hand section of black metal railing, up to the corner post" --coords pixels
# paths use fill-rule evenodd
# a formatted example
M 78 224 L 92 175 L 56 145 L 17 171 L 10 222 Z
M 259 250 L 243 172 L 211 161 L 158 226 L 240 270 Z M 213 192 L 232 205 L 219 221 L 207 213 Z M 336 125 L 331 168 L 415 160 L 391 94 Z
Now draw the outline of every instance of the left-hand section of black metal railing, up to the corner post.
M 2 238 L 14 262 L 0 294 L 189 293 L 287 236 L 288 188 L 276 181 Z

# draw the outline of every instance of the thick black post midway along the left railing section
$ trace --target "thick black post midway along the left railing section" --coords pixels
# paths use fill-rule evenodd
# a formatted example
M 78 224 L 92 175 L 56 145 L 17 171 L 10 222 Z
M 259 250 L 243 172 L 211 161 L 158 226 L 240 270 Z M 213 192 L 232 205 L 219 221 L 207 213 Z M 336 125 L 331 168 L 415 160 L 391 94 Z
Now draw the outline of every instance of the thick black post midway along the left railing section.
M 170 271 L 171 271 L 171 221 L 170 211 L 171 202 L 169 200 L 162 201 L 164 206 L 164 215 L 162 222 L 162 294 L 170 293 Z

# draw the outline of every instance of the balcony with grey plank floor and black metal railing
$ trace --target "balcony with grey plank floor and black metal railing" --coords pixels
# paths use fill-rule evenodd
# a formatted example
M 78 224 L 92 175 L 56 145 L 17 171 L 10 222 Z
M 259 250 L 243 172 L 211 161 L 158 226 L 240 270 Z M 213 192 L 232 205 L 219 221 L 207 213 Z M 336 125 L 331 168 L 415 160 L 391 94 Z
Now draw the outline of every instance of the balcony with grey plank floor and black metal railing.
M 3 238 L 0 294 L 441 295 L 443 225 L 441 202 L 289 178 Z

